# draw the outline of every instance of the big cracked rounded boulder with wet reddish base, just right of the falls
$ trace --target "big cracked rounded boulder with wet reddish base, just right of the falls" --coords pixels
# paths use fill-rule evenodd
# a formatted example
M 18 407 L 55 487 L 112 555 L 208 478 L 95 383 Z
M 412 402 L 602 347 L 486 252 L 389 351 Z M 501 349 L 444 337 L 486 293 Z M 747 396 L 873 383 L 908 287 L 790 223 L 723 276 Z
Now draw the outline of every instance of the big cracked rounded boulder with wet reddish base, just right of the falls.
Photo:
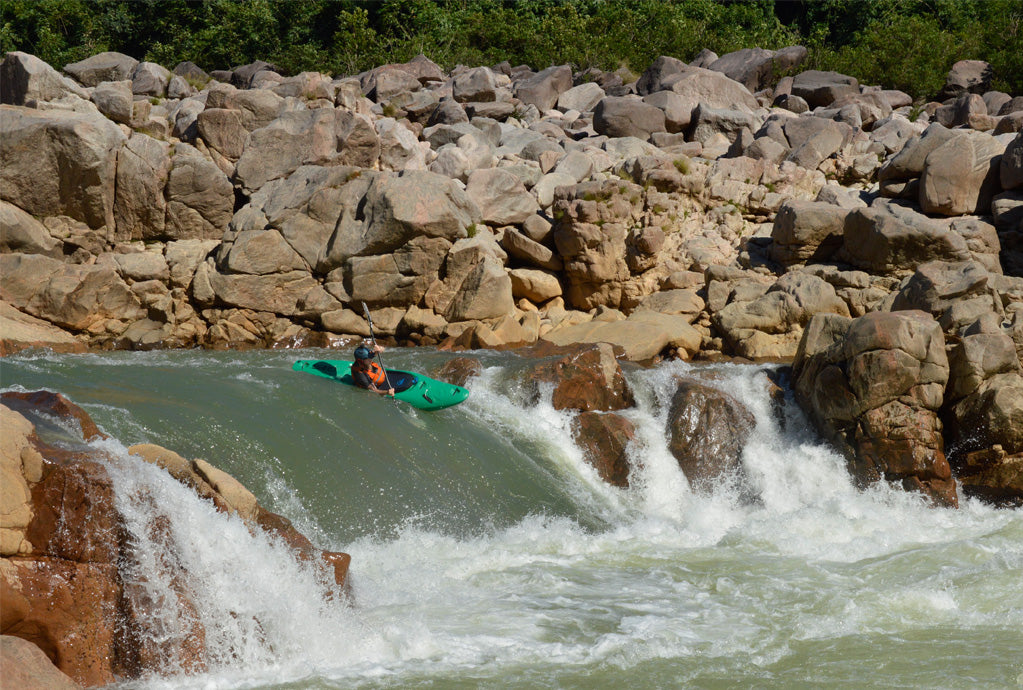
M 930 314 L 814 316 L 793 373 L 801 404 L 858 481 L 900 481 L 938 505 L 957 505 L 938 417 L 948 359 Z

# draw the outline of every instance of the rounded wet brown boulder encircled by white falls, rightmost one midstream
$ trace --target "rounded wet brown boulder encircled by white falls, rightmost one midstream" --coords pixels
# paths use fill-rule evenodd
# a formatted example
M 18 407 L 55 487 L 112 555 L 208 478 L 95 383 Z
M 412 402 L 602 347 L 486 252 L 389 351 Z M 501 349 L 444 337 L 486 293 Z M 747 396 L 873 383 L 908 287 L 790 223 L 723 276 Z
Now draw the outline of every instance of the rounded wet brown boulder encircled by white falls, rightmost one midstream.
M 696 379 L 682 379 L 671 398 L 668 449 L 694 487 L 710 490 L 742 471 L 743 448 L 756 421 L 741 402 Z

